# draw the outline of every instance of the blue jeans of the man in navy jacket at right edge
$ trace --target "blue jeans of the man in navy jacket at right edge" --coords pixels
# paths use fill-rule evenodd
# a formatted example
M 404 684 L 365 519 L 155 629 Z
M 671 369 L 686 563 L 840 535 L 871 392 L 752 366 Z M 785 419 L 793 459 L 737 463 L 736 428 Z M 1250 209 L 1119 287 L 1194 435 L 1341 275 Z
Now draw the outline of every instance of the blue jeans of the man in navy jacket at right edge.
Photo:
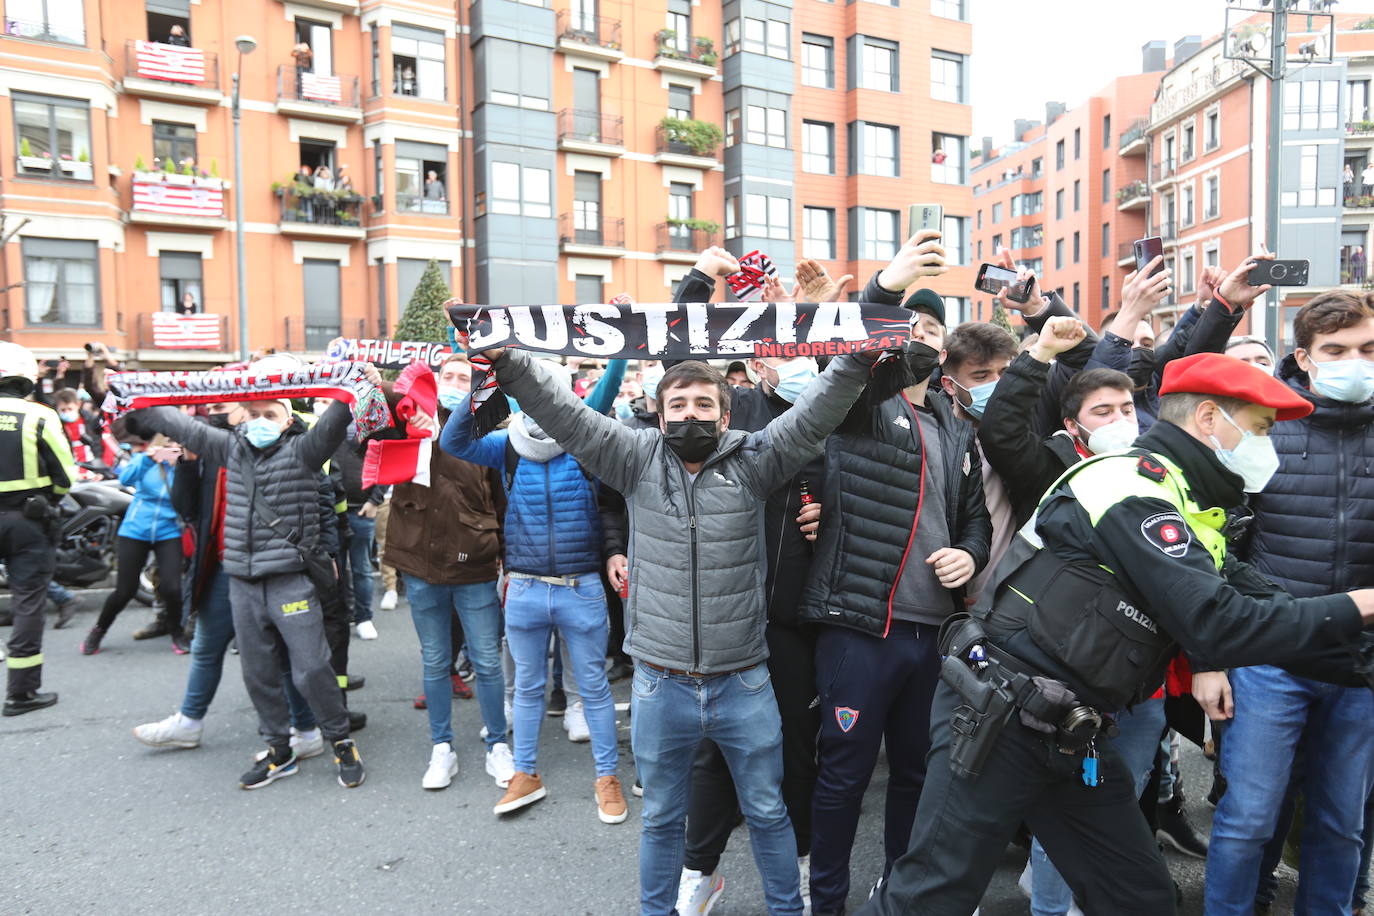
M 1374 783 L 1374 694 L 1296 677 L 1270 665 L 1232 669 L 1235 718 L 1221 742 L 1226 795 L 1212 821 L 1208 916 L 1253 911 L 1260 857 L 1274 836 L 1300 742 L 1303 851 L 1296 916 L 1349 912 Z

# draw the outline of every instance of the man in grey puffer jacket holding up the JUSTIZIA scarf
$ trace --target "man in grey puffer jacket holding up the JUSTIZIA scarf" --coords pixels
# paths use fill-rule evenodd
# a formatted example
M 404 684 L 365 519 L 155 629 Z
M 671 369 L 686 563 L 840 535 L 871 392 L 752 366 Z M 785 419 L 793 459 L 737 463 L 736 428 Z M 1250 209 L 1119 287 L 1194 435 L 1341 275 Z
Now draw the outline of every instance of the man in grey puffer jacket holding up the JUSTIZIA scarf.
M 870 282 L 859 306 L 578 306 L 587 310 L 583 314 L 598 316 L 602 327 L 595 330 L 578 325 L 576 309 L 565 314 L 554 306 L 543 310 L 548 321 L 543 335 L 534 332 L 529 309 L 491 310 L 486 325 L 474 323 L 480 335 L 469 346 L 488 349 L 500 385 L 550 438 L 624 493 L 629 505 L 625 651 L 636 662 L 631 721 L 644 786 L 639 847 L 644 916 L 675 909 L 688 775 L 703 737 L 720 747 L 735 779 L 768 912 L 802 912 L 797 845 L 780 791 L 780 720 L 764 663 L 764 501 L 819 453 L 868 385 L 882 349 L 903 347 L 908 335 L 908 319 L 897 308 L 903 291 L 919 277 L 945 272 L 937 239 L 938 233 L 908 239 Z M 738 272 L 739 262 L 723 249 L 709 249 L 697 269 L 714 280 Z M 871 325 L 863 320 L 866 312 Z M 764 319 L 761 330 L 750 330 L 750 313 Z M 449 314 L 466 335 L 471 310 L 456 306 Z M 523 350 L 489 349 L 514 342 L 561 350 L 583 332 L 602 336 L 603 346 L 614 343 L 606 356 L 739 354 L 752 352 L 756 342 L 846 352 L 791 409 L 746 434 L 727 428 L 731 391 L 724 378 L 695 360 L 672 367 L 660 380 L 660 428 L 631 430 L 583 409 Z M 687 339 L 671 345 L 679 335 Z M 584 350 L 573 346 L 572 352 Z M 445 438 L 460 423 L 451 416 Z

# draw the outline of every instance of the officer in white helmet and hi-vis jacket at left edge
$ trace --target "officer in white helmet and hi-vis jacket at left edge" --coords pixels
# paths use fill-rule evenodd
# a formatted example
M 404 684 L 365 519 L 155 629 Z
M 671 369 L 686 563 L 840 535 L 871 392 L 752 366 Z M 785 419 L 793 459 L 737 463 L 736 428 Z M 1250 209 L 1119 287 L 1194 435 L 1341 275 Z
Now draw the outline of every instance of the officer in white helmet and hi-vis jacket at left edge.
M 58 702 L 43 694 L 43 606 L 56 551 L 51 497 L 76 479 L 71 445 L 52 408 L 26 400 L 38 363 L 26 347 L 0 341 L 0 559 L 10 580 L 10 632 L 4 714 L 23 715 Z

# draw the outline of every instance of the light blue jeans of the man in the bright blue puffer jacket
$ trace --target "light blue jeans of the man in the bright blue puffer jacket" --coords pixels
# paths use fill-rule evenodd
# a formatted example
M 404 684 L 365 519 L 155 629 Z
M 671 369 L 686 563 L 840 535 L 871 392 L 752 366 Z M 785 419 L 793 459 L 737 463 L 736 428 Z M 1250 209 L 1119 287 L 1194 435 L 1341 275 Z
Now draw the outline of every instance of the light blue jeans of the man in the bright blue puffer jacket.
M 539 726 L 544 721 L 548 681 L 548 634 L 554 628 L 567 644 L 581 691 L 587 731 L 592 736 L 596 776 L 611 776 L 616 750 L 616 702 L 606 680 L 606 592 L 596 573 L 576 588 L 511 578 L 506 589 L 506 644 L 515 661 L 515 769 L 537 773 Z M 555 658 L 558 658 L 555 655 Z

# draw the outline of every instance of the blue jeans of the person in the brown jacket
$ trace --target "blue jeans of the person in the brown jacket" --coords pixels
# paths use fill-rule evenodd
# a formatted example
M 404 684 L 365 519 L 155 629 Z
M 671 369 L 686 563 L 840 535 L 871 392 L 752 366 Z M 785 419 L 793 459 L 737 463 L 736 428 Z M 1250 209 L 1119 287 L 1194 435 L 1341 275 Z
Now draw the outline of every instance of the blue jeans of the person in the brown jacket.
M 477 674 L 477 705 L 486 725 L 486 747 L 506 743 L 506 677 L 502 674 L 502 606 L 496 581 L 473 585 L 433 585 L 414 575 L 405 578 L 415 634 L 420 637 L 425 665 L 425 700 L 429 706 L 430 742 L 453 740 L 453 611 L 463 623 L 467 659 Z

